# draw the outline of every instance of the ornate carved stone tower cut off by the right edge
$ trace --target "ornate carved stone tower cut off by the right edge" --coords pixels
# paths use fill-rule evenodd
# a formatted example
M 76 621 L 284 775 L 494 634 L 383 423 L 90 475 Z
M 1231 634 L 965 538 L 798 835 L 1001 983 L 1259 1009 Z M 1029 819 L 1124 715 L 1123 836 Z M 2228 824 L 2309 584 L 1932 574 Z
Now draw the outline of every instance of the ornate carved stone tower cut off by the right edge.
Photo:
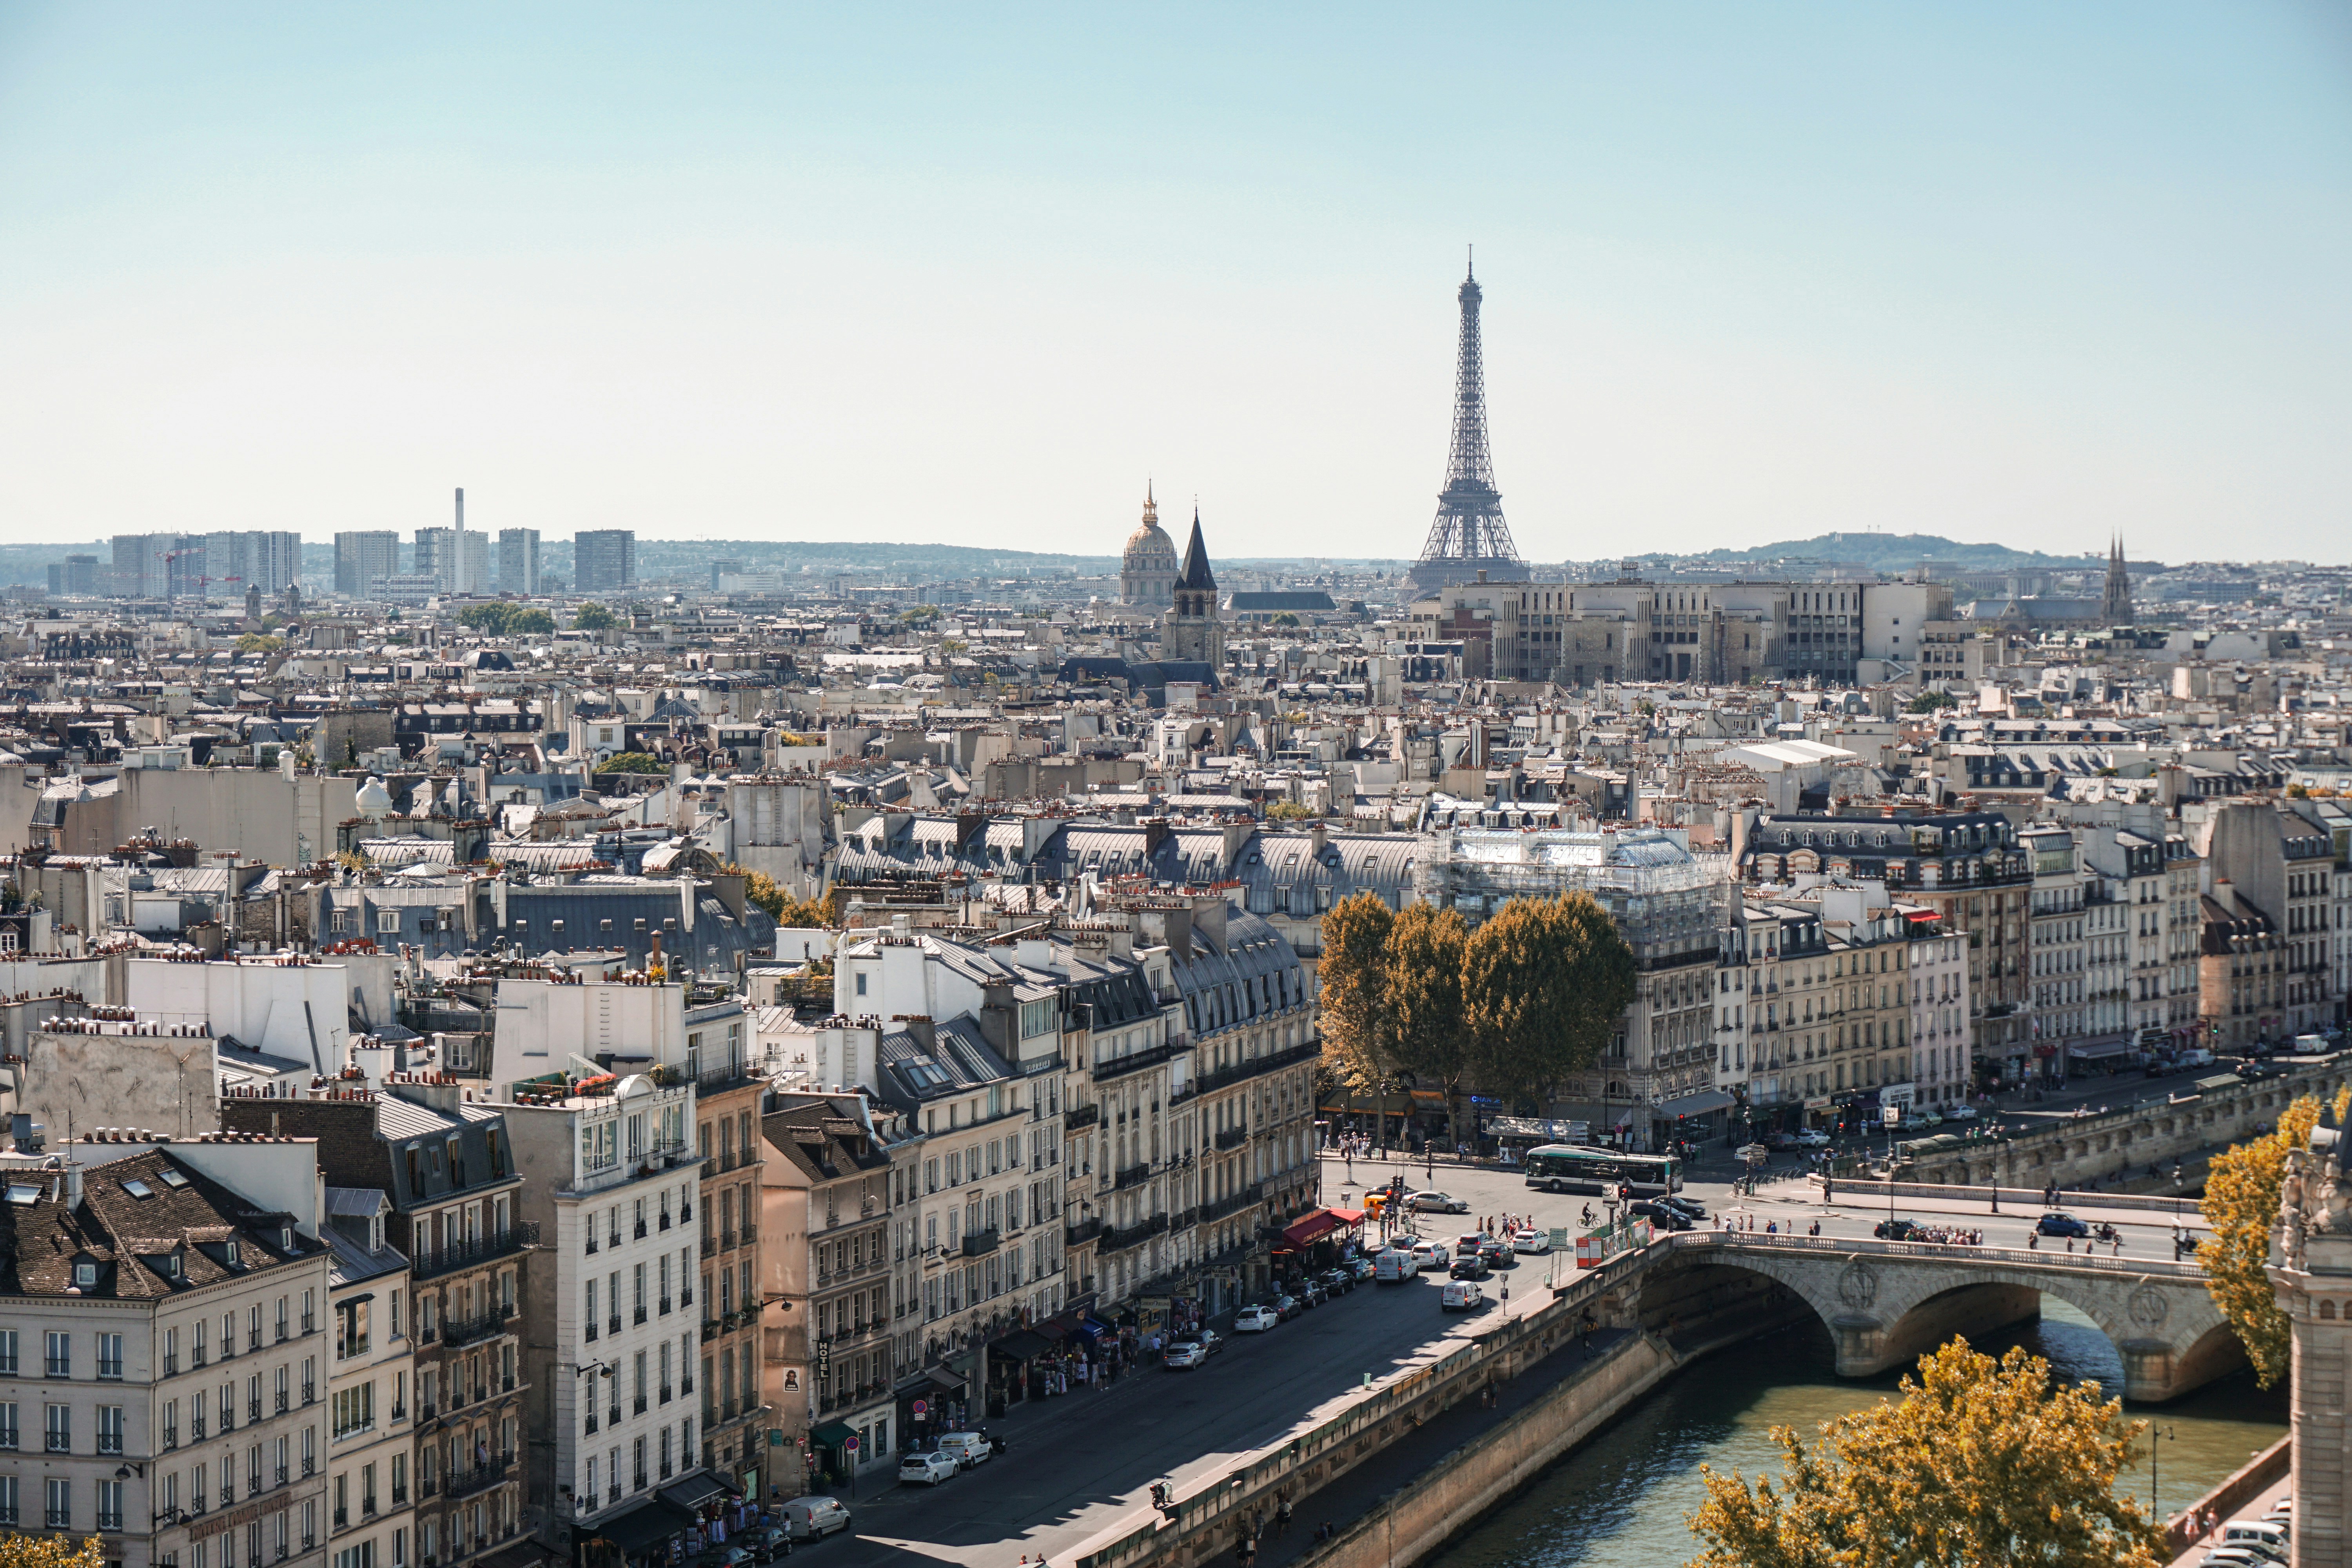
M 2321 1100 L 2312 1150 L 2286 1157 L 2270 1284 L 2291 1324 L 2288 1434 L 2296 1530 L 2291 1568 L 2352 1568 L 2345 1354 L 2352 1352 L 2352 1173 L 2336 1107 Z

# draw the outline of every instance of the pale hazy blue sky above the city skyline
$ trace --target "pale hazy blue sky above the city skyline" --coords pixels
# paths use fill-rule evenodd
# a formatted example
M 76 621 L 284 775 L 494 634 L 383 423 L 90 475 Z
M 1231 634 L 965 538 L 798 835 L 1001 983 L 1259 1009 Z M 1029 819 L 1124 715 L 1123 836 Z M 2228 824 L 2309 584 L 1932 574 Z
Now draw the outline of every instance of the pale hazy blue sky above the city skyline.
M 2352 9 L 0 7 L 0 527 L 2352 557 Z M 1446 14 L 1446 21 L 1432 16 Z

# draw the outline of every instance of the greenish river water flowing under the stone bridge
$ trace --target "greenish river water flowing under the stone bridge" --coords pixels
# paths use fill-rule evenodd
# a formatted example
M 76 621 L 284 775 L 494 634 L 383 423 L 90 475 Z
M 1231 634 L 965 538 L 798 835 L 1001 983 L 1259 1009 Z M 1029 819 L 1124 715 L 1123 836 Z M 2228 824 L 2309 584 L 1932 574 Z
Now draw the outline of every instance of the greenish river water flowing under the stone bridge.
M 2025 1345 L 2049 1356 L 2063 1378 L 2122 1387 L 2124 1366 L 2091 1319 L 2049 1295 L 2039 1324 L 1985 1340 L 1999 1354 Z M 1832 1368 L 1830 1338 L 1818 1326 L 1788 1328 L 1719 1352 L 1597 1439 L 1559 1460 L 1486 1523 L 1456 1542 L 1437 1568 L 1663 1568 L 1698 1552 L 1686 1519 L 1705 1488 L 1700 1465 L 1736 1469 L 1750 1481 L 1780 1474 L 1773 1427 L 1813 1429 L 1893 1392 L 1900 1373 L 1844 1380 Z M 2169 1516 L 2286 1432 L 2286 1392 L 2263 1394 L 2251 1373 L 2209 1382 L 2161 1408 L 2136 1410 L 2173 1429 L 2159 1465 L 2159 1505 Z M 2147 1465 L 2122 1486 L 2147 1497 Z

